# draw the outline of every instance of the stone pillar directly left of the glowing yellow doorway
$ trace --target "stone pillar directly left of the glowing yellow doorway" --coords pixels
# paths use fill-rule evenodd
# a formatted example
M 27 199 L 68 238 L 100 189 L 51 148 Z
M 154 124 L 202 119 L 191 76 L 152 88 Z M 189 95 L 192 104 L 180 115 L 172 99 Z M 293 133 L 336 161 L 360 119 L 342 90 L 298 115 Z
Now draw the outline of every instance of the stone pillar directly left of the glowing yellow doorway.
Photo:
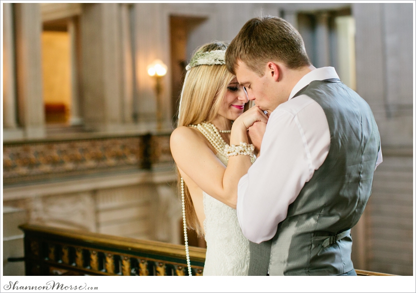
M 40 4 L 15 3 L 14 7 L 19 122 L 26 138 L 44 137 Z

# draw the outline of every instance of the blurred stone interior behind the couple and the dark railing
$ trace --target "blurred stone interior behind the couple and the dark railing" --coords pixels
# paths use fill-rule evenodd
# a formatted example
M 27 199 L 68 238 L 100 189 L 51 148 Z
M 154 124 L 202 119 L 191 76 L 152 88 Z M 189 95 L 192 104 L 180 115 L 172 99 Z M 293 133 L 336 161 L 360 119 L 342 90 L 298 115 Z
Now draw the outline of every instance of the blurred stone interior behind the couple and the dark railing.
M 412 3 L 2 3 L 3 266 L 22 223 L 181 243 L 169 150 L 184 68 L 259 15 L 302 35 L 369 104 L 384 162 L 353 229 L 356 269 L 413 271 Z M 155 59 L 167 66 L 147 73 Z M 193 240 L 204 246 L 203 240 Z

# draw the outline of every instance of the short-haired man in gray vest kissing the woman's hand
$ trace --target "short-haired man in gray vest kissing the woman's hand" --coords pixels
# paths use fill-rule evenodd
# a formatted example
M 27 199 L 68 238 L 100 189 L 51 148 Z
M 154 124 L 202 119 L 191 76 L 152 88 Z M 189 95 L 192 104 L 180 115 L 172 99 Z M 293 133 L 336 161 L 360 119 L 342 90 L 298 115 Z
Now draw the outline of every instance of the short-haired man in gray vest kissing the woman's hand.
M 261 156 L 238 184 L 249 274 L 356 275 L 350 229 L 382 161 L 369 105 L 334 68 L 314 68 L 298 31 L 278 17 L 248 21 L 226 64 L 269 115 L 249 128 L 265 129 Z

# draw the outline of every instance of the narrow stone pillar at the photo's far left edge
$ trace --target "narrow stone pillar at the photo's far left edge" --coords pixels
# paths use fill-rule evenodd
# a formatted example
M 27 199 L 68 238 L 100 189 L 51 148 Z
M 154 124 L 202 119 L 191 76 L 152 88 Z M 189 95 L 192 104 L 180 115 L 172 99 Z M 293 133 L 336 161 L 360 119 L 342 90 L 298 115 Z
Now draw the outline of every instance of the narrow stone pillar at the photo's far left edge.
M 17 127 L 12 5 L 3 4 L 3 129 Z

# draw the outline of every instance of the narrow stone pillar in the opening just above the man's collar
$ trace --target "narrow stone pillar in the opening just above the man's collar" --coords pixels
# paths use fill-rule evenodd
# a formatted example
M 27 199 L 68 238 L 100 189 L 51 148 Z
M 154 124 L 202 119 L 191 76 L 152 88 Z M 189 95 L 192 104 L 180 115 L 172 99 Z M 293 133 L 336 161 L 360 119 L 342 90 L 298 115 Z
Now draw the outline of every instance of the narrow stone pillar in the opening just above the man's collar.
M 320 13 L 317 15 L 316 26 L 316 68 L 329 66 L 329 29 L 328 14 Z

